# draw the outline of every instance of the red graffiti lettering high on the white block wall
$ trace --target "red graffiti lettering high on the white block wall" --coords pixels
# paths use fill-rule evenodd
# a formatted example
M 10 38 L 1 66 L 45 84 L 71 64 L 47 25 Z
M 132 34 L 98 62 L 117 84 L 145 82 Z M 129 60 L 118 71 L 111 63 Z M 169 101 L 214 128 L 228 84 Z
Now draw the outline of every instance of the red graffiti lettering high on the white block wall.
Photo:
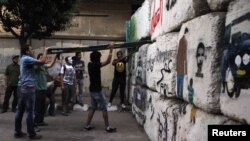
M 152 34 L 155 31 L 156 26 L 161 22 L 162 24 L 162 13 L 163 13 L 163 0 L 160 0 L 160 7 L 155 10 L 155 3 L 156 0 L 153 1 L 153 11 L 152 11 L 152 18 L 151 18 L 151 28 L 150 28 L 150 33 Z

